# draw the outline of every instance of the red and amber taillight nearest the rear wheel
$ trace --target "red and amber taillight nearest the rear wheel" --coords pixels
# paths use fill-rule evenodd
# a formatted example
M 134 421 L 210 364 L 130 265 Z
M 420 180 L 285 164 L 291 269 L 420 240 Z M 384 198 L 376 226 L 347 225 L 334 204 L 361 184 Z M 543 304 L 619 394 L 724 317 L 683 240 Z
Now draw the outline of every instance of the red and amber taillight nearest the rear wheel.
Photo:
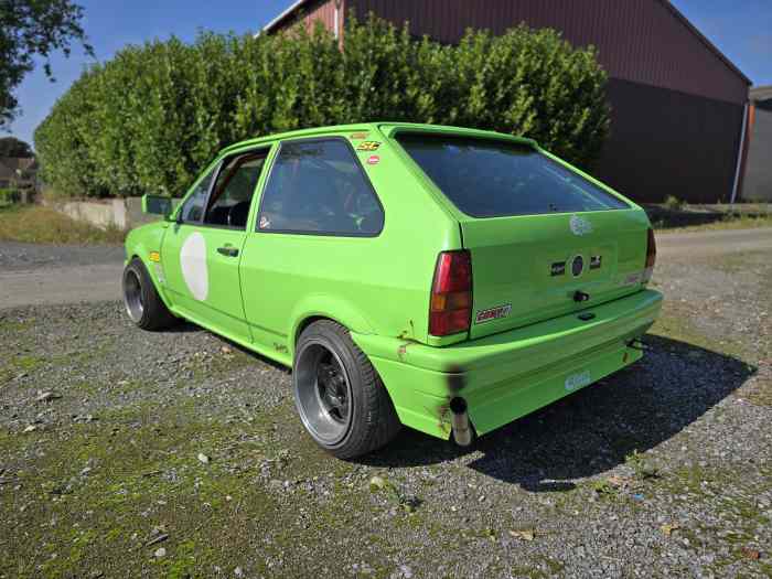
M 442 251 L 431 286 L 429 333 L 450 335 L 469 331 L 472 317 L 472 257 L 467 250 Z

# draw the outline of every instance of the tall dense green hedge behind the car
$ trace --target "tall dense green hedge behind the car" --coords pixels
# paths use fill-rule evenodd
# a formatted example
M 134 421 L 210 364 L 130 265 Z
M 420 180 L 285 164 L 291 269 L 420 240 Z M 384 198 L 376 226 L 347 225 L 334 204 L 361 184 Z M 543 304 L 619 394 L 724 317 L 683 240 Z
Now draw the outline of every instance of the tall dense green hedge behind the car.
M 45 181 L 65 196 L 181 195 L 226 144 L 368 120 L 494 129 L 590 168 L 609 126 L 592 47 L 522 25 L 457 46 L 371 18 L 345 44 L 313 33 L 201 34 L 128 46 L 85 72 L 35 131 Z

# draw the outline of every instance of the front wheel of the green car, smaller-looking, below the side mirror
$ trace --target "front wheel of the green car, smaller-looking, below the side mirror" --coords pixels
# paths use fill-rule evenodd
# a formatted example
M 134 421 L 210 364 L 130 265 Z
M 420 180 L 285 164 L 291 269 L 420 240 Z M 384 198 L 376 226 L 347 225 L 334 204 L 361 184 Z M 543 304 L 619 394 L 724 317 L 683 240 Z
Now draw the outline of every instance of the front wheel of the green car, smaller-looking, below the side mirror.
M 124 269 L 122 292 L 126 313 L 138 328 L 158 331 L 178 322 L 158 294 L 144 264 L 137 257 Z

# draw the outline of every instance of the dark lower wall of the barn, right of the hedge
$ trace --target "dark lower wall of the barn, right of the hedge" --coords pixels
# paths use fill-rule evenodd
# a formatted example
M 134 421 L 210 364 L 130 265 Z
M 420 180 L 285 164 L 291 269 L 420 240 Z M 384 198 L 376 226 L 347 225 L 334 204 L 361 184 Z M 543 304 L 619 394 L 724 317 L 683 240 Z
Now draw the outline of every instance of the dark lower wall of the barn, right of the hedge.
M 599 179 L 642 203 L 729 201 L 743 107 L 612 78 Z

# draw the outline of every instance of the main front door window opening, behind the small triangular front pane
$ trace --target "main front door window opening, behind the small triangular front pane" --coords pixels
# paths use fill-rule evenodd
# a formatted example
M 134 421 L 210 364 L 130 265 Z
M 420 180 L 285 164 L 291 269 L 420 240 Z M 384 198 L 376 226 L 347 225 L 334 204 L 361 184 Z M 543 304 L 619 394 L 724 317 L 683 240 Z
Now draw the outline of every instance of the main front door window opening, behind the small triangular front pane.
M 245 229 L 267 151 L 228 159 L 217 175 L 204 223 Z

